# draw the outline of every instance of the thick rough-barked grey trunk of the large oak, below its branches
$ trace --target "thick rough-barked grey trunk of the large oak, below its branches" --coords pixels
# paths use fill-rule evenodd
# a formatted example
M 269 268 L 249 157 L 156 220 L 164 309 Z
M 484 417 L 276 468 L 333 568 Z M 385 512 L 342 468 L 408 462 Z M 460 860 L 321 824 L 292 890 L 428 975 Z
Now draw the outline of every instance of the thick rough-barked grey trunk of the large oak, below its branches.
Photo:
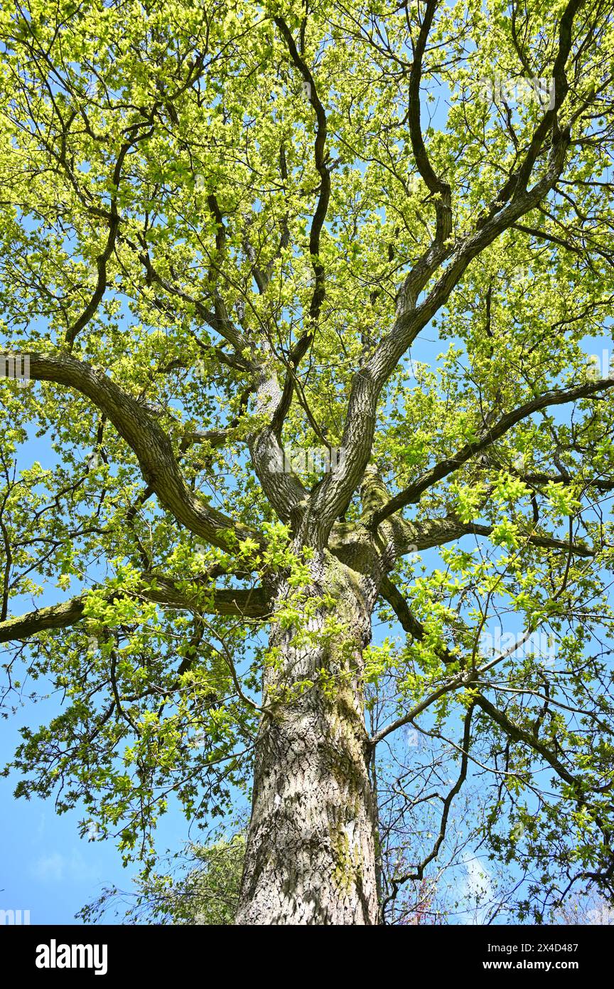
M 364 726 L 363 660 L 374 582 L 326 553 L 312 566 L 301 628 L 273 622 L 238 924 L 376 924 L 375 815 Z M 335 599 L 331 610 L 325 593 Z M 278 588 L 277 610 L 288 594 Z M 342 631 L 327 631 L 327 618 Z M 313 687 L 275 702 L 282 689 Z M 328 684 L 328 685 L 327 685 Z

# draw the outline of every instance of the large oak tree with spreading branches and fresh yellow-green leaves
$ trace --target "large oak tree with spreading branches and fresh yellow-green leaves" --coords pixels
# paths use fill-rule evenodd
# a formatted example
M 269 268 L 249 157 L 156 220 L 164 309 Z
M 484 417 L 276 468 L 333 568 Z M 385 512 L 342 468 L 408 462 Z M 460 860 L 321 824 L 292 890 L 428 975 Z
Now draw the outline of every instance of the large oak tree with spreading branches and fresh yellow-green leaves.
M 17 792 L 150 865 L 171 795 L 208 820 L 251 792 L 237 922 L 371 925 L 377 754 L 409 726 L 455 778 L 406 791 L 439 824 L 395 891 L 475 771 L 525 914 L 611 895 L 614 380 L 583 345 L 613 298 L 611 5 L 31 0 L 0 31 L 30 376 L 0 638 L 7 697 L 24 665 L 62 701 Z

